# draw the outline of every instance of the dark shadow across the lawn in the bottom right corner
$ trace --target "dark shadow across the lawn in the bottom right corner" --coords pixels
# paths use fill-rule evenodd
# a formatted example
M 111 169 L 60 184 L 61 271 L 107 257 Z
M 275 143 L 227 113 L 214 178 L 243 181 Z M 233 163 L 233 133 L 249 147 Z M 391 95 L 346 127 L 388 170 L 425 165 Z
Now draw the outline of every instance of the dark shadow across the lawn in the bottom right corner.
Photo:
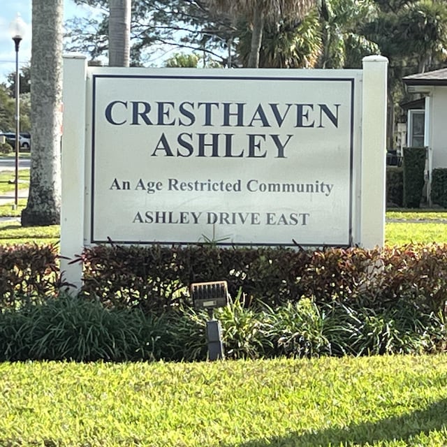
M 317 446 L 351 446 L 373 444 L 385 441 L 404 441 L 408 443 L 413 437 L 423 433 L 425 436 L 434 430 L 447 427 L 447 400 L 434 402 L 426 409 L 413 411 L 403 416 L 396 416 L 379 420 L 375 423 L 360 423 L 348 427 L 333 427 L 312 432 L 292 432 L 284 437 L 274 437 L 264 440 L 248 441 L 237 444 L 237 447 L 317 447 Z M 443 444 L 447 445 L 447 434 Z M 410 444 L 412 445 L 412 444 Z M 423 444 L 414 444 L 422 446 Z M 434 444 L 430 444 L 434 445 Z M 230 447 L 230 446 L 227 446 Z M 235 447 L 232 445 L 231 447 Z

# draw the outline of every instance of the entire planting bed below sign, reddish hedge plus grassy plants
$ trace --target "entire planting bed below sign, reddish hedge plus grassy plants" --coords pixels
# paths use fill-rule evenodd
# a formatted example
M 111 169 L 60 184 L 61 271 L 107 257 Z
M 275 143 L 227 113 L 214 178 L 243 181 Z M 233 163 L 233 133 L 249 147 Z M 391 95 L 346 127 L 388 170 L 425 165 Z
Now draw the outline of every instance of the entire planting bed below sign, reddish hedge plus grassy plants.
M 228 358 L 445 351 L 447 245 L 86 248 L 78 297 L 54 247 L 0 247 L 0 360 L 205 360 L 189 284 L 228 281 Z

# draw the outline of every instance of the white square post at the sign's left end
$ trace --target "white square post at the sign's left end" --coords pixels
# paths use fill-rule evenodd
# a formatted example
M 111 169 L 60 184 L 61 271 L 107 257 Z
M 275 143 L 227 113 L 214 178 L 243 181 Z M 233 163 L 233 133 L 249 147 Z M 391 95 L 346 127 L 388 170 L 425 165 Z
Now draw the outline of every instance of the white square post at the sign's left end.
M 70 261 L 84 247 L 86 82 L 85 56 L 64 56 L 60 254 L 61 272 L 72 293 L 82 285 L 82 264 Z

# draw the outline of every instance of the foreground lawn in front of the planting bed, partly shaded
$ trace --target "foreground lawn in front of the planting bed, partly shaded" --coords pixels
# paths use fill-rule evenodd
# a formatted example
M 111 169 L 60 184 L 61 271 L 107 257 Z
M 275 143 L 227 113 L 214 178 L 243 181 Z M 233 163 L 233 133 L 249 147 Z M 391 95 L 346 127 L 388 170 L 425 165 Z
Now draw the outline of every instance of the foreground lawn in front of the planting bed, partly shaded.
M 4 446 L 443 446 L 446 356 L 0 365 Z

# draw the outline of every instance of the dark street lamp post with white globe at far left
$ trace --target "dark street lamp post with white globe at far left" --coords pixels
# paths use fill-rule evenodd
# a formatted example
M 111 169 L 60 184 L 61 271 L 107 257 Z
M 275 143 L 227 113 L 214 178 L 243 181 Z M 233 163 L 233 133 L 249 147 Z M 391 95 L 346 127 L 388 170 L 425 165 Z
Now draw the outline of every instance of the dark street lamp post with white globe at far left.
M 20 149 L 20 75 L 19 75 L 19 46 L 22 41 L 26 24 L 17 13 L 13 22 L 10 23 L 9 32 L 15 43 L 15 193 L 14 209 L 17 210 L 19 203 L 19 149 Z

